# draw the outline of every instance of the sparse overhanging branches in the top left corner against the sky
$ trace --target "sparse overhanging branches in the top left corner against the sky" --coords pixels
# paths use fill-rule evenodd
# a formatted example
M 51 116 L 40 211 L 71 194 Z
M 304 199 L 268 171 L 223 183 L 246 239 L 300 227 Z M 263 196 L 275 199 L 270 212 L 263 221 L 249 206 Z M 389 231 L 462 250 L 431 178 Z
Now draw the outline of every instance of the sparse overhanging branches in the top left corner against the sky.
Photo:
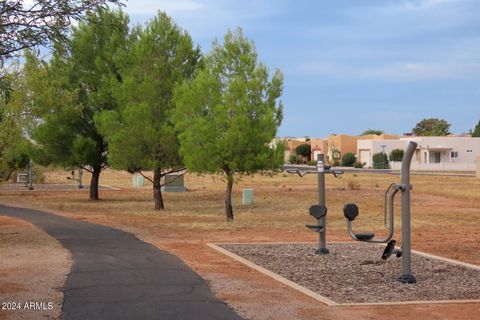
M 119 0 L 0 1 L 0 65 L 23 49 L 45 45 L 62 35 L 72 20 Z

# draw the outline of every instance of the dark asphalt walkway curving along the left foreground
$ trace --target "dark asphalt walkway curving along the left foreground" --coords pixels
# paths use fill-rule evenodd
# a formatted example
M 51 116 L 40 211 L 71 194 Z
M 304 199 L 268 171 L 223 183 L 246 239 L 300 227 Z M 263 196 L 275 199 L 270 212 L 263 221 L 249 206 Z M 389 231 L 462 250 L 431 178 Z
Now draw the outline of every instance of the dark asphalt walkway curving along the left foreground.
M 0 215 L 33 223 L 71 252 L 65 320 L 241 319 L 180 259 L 130 233 L 5 205 Z

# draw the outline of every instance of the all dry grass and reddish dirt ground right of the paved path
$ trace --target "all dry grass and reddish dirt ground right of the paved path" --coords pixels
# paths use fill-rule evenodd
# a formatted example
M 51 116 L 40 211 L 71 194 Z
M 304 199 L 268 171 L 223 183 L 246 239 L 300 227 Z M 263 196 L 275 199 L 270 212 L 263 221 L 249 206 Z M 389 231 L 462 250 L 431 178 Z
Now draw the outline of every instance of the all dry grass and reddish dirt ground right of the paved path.
M 392 175 L 327 176 L 328 241 L 349 240 L 342 213 L 348 202 L 360 208 L 355 227 L 381 235 L 383 192 L 396 181 L 398 177 Z M 188 174 L 188 191 L 164 194 L 162 212 L 153 210 L 151 186 L 131 188 L 128 173 L 108 171 L 101 183 L 122 190 L 101 191 L 98 202 L 88 201 L 88 195 L 80 192 L 0 191 L 0 197 L 5 203 L 133 232 L 183 259 L 246 319 L 478 319 L 479 303 L 328 307 L 206 246 L 209 242 L 315 242 L 317 234 L 304 228 L 314 222 L 308 215 L 308 207 L 317 202 L 313 176 L 280 173 L 242 178 L 234 187 L 233 223 L 225 221 L 225 182 L 218 176 Z M 479 265 L 480 179 L 413 176 L 412 184 L 413 249 Z M 243 188 L 255 190 L 254 205 L 241 205 Z M 396 225 L 401 225 L 399 216 Z M 397 228 L 394 239 L 401 238 L 400 232 Z

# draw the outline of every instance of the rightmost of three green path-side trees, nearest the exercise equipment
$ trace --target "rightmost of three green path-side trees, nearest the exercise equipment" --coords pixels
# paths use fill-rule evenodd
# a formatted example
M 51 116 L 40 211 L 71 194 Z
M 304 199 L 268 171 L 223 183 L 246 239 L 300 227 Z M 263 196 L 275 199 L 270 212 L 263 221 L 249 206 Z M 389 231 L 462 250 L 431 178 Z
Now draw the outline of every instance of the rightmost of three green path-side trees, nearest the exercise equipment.
M 176 90 L 174 121 L 187 168 L 223 173 L 225 212 L 233 220 L 234 174 L 277 169 L 283 145 L 271 146 L 282 120 L 283 75 L 269 77 L 241 29 L 213 43 L 205 68 Z

